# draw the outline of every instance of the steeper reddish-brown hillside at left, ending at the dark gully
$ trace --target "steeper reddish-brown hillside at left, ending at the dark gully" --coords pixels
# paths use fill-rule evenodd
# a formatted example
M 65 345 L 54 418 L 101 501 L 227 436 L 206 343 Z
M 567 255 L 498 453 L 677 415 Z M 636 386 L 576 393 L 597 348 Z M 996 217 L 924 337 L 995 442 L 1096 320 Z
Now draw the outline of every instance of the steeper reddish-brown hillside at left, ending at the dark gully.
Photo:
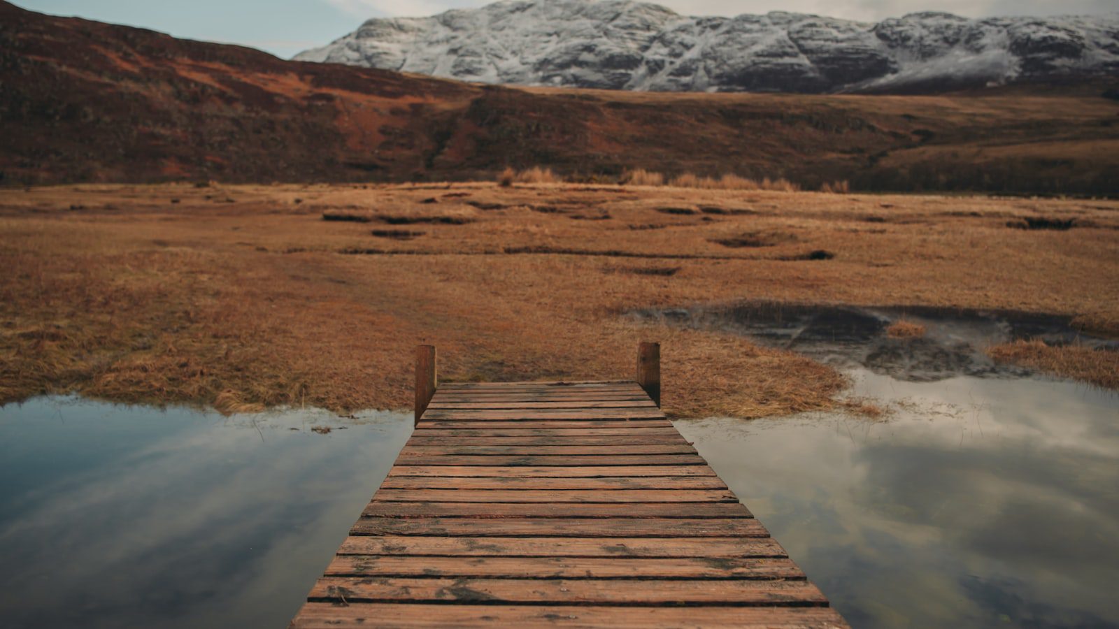
M 477 95 L 0 2 L 0 170 L 18 180 L 406 177 Z

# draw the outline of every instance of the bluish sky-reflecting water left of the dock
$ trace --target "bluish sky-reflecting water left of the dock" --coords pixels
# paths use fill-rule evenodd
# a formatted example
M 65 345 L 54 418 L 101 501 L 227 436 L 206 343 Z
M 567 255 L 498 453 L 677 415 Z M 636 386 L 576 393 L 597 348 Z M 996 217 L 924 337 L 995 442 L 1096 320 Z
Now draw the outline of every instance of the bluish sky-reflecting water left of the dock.
M 73 398 L 3 407 L 3 625 L 283 627 L 410 420 Z M 311 432 L 320 425 L 345 430 Z

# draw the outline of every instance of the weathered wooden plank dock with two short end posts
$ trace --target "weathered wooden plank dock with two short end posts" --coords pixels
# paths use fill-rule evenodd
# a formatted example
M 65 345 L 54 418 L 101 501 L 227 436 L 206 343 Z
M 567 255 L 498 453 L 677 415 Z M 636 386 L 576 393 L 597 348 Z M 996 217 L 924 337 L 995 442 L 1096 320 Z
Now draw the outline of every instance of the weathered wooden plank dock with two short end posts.
M 421 349 L 415 432 L 291 627 L 846 627 L 661 413 L 658 354 L 643 386 L 436 388 Z

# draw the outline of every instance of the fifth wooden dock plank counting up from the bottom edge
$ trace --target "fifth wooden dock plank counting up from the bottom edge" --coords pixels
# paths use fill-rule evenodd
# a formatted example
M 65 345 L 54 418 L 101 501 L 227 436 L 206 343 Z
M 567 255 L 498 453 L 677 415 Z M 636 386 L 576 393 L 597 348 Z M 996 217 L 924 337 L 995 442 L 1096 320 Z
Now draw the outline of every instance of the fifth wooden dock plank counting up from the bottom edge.
M 350 535 L 440 537 L 768 537 L 754 518 L 361 518 Z

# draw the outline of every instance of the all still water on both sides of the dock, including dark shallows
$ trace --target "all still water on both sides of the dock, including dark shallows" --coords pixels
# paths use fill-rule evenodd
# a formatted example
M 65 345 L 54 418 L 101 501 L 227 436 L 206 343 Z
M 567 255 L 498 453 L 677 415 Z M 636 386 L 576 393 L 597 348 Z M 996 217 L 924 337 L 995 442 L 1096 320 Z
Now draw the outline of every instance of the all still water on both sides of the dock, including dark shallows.
M 921 339 L 884 330 L 904 314 Z M 1119 627 L 1119 395 L 993 364 L 1013 313 L 642 313 L 839 366 L 883 420 L 677 426 L 854 627 Z M 411 414 L 0 409 L 0 625 L 284 627 Z M 313 428 L 331 428 L 320 434 Z

